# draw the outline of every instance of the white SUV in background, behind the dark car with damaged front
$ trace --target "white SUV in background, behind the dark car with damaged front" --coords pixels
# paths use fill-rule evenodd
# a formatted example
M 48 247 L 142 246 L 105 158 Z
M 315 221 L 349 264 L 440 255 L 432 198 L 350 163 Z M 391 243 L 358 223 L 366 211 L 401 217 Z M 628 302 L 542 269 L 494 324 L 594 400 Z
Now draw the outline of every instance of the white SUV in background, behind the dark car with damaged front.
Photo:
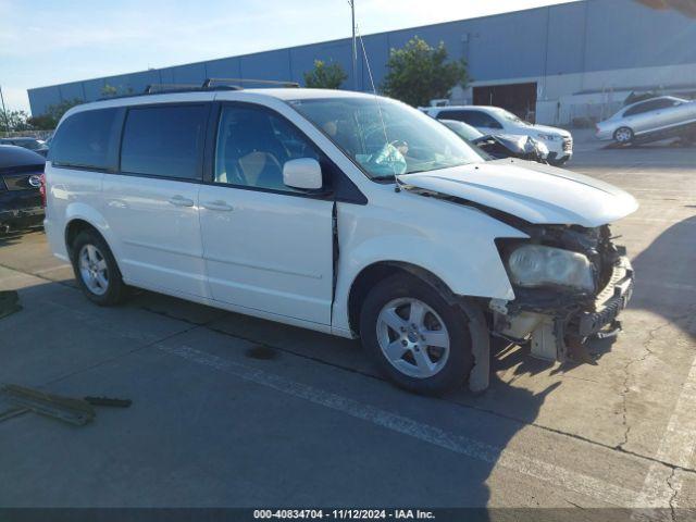
M 546 146 L 551 165 L 562 165 L 573 157 L 573 137 L 568 130 L 525 122 L 499 107 L 445 105 L 421 110 L 437 120 L 464 122 L 483 134 L 531 136 Z

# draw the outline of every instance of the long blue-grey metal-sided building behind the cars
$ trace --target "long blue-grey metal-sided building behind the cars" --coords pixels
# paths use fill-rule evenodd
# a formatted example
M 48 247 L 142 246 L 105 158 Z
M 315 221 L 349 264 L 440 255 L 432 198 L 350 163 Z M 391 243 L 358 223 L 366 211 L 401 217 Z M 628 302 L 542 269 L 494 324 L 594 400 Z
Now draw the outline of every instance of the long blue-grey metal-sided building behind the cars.
M 582 0 L 478 18 L 369 35 L 364 46 L 374 82 L 386 72 L 389 49 L 418 35 L 445 42 L 450 58 L 469 63 L 472 82 L 452 102 L 493 103 L 543 123 L 602 117 L 634 89 L 696 91 L 696 21 L 635 0 Z M 222 58 L 139 73 L 29 89 L 33 114 L 62 100 L 91 101 L 104 85 L 140 92 L 149 84 L 202 83 L 208 77 L 302 83 L 314 60 L 339 63 L 352 88 L 349 38 Z M 364 62 L 358 88 L 370 90 Z

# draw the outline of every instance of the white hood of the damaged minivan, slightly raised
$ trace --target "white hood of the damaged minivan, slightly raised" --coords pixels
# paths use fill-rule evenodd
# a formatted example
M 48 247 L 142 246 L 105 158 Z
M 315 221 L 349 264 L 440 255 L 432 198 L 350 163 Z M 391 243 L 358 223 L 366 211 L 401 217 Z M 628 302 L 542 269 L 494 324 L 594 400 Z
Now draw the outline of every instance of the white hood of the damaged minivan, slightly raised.
M 534 224 L 595 227 L 638 208 L 629 192 L 583 174 L 522 160 L 496 160 L 406 174 L 401 183 L 453 196 Z

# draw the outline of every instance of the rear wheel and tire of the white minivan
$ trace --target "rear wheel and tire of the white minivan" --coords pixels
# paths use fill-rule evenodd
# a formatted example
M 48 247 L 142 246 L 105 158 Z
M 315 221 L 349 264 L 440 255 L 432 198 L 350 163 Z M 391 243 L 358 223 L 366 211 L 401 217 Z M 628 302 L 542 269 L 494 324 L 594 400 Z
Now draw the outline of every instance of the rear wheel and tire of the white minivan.
M 72 245 L 75 278 L 87 299 L 100 307 L 123 302 L 126 285 L 107 241 L 94 231 L 80 232 Z

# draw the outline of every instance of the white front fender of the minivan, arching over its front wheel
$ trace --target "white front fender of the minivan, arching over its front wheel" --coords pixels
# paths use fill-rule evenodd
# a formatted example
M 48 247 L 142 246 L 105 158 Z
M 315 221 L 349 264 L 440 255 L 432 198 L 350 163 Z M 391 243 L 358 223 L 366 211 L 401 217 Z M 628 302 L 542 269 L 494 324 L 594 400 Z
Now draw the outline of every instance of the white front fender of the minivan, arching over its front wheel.
M 437 210 L 425 208 L 414 213 L 427 219 L 399 220 L 394 212 L 378 220 L 339 215 L 335 328 L 350 330 L 348 298 L 352 284 L 364 269 L 380 262 L 424 269 L 460 296 L 514 299 L 495 239 L 529 236 L 480 210 L 422 199 L 427 206 L 438 204 Z

